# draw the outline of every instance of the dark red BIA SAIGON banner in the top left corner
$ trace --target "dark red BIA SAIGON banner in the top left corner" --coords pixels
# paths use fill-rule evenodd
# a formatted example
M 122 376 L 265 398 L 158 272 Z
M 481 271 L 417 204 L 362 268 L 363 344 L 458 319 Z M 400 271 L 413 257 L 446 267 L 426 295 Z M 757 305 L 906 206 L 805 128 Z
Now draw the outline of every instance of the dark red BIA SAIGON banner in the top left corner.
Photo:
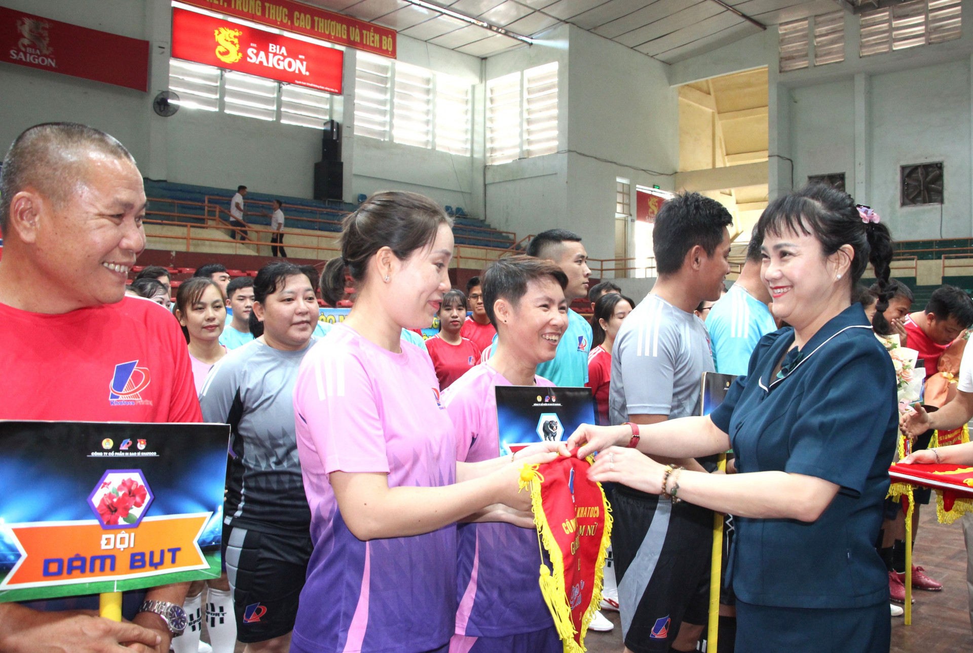
M 149 42 L 0 7 L 0 60 L 149 90 Z

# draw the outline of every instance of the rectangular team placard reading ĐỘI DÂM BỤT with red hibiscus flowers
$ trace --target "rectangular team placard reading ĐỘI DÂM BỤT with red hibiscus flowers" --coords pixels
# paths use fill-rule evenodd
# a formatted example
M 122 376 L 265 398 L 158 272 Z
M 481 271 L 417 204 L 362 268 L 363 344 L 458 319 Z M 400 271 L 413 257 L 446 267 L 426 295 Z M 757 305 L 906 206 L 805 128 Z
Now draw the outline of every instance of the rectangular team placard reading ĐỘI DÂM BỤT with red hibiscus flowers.
M 0 421 L 0 601 L 220 575 L 229 427 Z

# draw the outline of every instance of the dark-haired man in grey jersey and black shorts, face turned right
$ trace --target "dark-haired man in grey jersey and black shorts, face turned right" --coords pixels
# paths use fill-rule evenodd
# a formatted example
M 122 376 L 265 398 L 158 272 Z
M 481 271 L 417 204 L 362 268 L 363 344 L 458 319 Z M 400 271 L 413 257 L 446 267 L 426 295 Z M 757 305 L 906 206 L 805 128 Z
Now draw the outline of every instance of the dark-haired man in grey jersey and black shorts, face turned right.
M 720 297 L 730 272 L 732 224 L 722 204 L 697 193 L 663 204 L 653 232 L 659 279 L 622 322 L 612 349 L 612 424 L 697 413 L 703 372 L 715 369 L 705 325 L 693 309 Z M 660 461 L 703 469 L 693 459 Z M 626 486 L 616 486 L 612 510 L 626 650 L 696 650 L 708 604 L 712 512 Z

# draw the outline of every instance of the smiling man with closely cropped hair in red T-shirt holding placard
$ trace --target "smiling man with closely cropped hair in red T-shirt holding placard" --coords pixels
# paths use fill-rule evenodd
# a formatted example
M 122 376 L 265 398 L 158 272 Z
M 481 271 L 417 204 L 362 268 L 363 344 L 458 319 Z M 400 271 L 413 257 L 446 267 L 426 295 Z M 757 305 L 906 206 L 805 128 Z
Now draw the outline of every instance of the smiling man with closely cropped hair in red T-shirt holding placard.
M 122 143 L 84 125 L 30 127 L 7 153 L 0 190 L 0 419 L 201 421 L 175 319 L 125 295 L 145 248 L 146 200 Z M 120 398 L 110 388 L 120 386 L 120 369 L 131 374 L 131 361 L 144 381 L 137 396 Z M 152 588 L 144 599 L 182 605 L 188 586 Z M 120 644 L 165 653 L 172 633 L 141 594 L 126 593 L 133 623 L 84 611 L 97 609 L 97 597 L 0 604 L 0 653 Z

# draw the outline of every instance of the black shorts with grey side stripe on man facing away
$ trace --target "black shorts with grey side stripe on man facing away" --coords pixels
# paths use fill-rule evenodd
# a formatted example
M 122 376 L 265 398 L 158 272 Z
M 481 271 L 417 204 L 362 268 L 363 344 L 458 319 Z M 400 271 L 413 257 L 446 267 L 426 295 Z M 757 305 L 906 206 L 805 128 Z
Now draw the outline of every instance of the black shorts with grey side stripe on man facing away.
M 679 626 L 708 610 L 713 513 L 616 486 L 612 551 L 625 645 L 666 653 Z

